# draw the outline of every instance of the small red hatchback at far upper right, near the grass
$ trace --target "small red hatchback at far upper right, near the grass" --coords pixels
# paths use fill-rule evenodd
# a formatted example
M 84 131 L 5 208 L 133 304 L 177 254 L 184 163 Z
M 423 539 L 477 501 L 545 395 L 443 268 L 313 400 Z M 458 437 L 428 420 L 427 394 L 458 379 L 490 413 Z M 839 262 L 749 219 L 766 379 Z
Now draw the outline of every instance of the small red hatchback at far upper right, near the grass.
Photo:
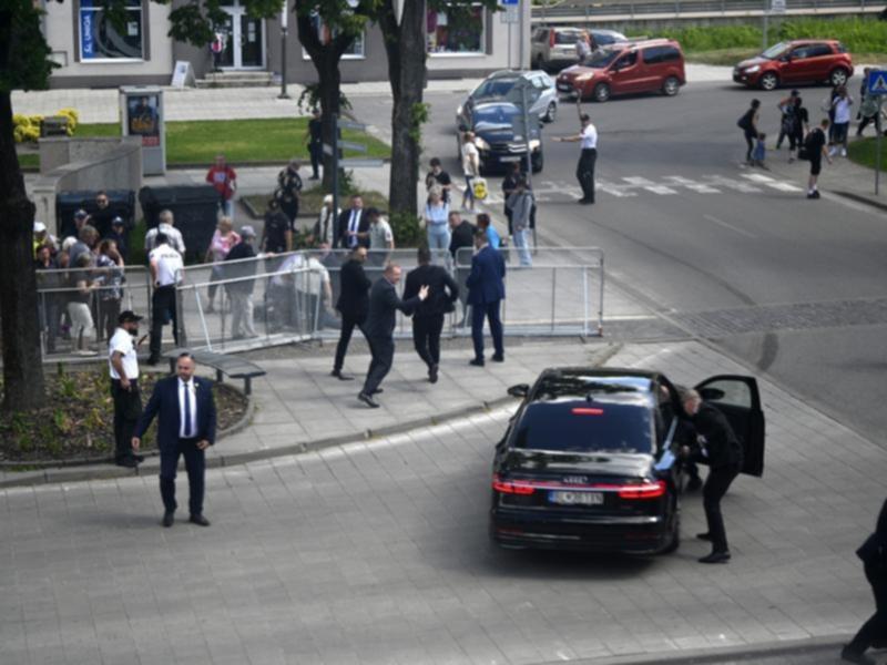
M 853 76 L 847 49 L 834 39 L 779 42 L 733 70 L 733 80 L 763 90 L 798 83 L 844 85 Z

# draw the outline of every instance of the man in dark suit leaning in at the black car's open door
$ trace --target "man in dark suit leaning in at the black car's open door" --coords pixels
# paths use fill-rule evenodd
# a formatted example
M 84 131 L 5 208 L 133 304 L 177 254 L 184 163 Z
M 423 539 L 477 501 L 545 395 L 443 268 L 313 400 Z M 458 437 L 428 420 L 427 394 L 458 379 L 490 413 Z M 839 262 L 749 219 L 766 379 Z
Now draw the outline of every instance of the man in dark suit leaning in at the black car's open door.
M 730 549 L 724 516 L 721 514 L 721 499 L 742 471 L 742 443 L 726 416 L 712 405 L 703 402 L 699 392 L 685 390 L 681 401 L 696 430 L 699 448 L 693 451 L 694 461 L 708 464 L 708 477 L 702 488 L 702 505 L 708 531 L 697 534 L 696 538 L 711 541 L 712 553 L 700 559 L 700 563 L 726 563 L 730 561 Z

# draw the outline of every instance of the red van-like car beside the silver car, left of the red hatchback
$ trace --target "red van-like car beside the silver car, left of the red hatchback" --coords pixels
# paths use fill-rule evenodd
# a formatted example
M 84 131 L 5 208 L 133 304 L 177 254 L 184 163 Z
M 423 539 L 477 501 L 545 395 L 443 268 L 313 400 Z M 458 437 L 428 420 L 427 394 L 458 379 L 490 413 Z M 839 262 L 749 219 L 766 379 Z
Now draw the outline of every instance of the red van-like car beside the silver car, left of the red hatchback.
M 616 43 L 595 51 L 583 65 L 558 76 L 558 90 L 605 102 L 615 94 L 662 92 L 677 94 L 686 83 L 681 44 L 670 39 Z

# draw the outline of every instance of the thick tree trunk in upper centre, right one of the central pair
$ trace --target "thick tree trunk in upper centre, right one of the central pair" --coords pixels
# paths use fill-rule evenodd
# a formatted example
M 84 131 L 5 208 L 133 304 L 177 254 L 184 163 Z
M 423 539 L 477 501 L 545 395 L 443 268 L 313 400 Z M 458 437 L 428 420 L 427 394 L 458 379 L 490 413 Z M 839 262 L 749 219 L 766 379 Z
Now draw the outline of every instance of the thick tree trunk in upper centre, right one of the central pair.
M 422 103 L 425 85 L 426 1 L 405 2 L 400 21 L 394 0 L 386 0 L 381 25 L 388 53 L 391 84 L 391 180 L 388 198 L 392 213 L 417 214 L 421 124 L 416 109 Z

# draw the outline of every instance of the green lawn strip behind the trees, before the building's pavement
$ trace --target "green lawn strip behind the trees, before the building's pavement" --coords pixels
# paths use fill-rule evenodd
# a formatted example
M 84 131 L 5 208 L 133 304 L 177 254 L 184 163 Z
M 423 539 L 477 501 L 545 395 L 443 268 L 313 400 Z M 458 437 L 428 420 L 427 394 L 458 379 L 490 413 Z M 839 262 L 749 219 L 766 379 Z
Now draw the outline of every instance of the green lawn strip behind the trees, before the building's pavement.
M 307 117 L 261 120 L 205 120 L 166 123 L 166 163 L 171 166 L 207 166 L 224 153 L 236 168 L 249 163 L 285 163 L 308 158 Z M 80 124 L 75 136 L 120 136 L 118 123 Z M 345 141 L 363 143 L 367 152 L 346 151 L 347 157 L 388 157 L 390 147 L 368 134 L 345 130 Z M 22 166 L 39 167 L 37 155 L 22 155 Z

